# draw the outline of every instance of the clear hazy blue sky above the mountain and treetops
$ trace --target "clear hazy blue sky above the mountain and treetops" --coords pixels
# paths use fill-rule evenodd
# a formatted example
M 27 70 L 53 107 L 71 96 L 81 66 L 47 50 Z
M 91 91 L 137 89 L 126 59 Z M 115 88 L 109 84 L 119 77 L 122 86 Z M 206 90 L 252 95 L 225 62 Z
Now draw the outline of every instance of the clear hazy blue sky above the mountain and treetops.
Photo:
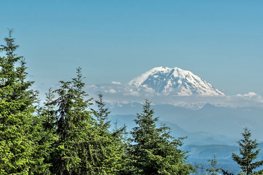
M 1 1 L 29 78 L 47 92 L 75 78 L 125 84 L 179 67 L 226 95 L 263 95 L 263 1 Z

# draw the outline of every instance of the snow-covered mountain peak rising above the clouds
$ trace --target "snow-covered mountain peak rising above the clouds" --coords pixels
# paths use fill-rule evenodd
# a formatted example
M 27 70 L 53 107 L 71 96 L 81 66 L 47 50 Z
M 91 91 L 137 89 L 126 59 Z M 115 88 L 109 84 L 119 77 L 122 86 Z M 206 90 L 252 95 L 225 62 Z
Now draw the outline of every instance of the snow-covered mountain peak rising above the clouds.
M 134 78 L 130 87 L 152 88 L 163 95 L 176 96 L 225 96 L 223 92 L 215 89 L 211 84 L 190 71 L 180 68 L 155 67 L 144 74 Z

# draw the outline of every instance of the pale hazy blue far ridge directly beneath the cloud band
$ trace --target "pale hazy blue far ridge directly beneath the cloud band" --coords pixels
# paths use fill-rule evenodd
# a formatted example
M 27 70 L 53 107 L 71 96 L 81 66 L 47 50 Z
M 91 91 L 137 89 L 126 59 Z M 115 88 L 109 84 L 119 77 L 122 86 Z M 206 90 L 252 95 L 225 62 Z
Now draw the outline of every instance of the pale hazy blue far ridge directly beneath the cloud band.
M 107 103 L 106 105 L 109 107 L 111 111 L 111 115 L 129 115 L 136 114 L 143 111 L 141 103 L 128 103 L 120 105 L 113 105 Z M 204 135 L 205 137 L 202 139 L 206 139 L 204 142 L 209 144 L 225 144 L 221 141 L 227 142 L 229 145 L 236 144 L 241 137 L 241 132 L 243 128 L 247 127 L 251 130 L 253 139 L 257 139 L 258 141 L 263 142 L 262 137 L 262 108 L 255 107 L 216 107 L 209 103 L 206 103 L 203 108 L 198 110 L 192 110 L 189 108 L 183 108 L 174 106 L 171 104 L 156 104 L 151 106 L 154 109 L 154 116 L 160 117 L 161 121 L 167 121 L 170 123 L 175 123 L 179 127 L 185 129 L 189 133 L 191 132 L 206 132 L 213 133 L 217 136 L 212 135 Z M 134 118 L 133 118 L 134 119 Z M 113 120 L 115 121 L 115 120 Z M 119 121 L 119 120 L 118 120 Z M 133 123 L 130 120 L 129 123 Z M 127 122 L 126 122 L 127 124 Z M 168 123 L 167 123 L 168 124 Z M 174 134 L 174 132 L 173 132 Z M 219 138 L 218 136 L 222 134 L 229 138 L 236 138 L 232 142 L 230 139 Z M 192 133 L 190 134 L 192 135 Z M 178 135 L 176 137 L 188 136 L 191 138 L 188 133 L 184 133 L 182 135 Z M 220 142 L 214 142 L 215 140 Z M 221 137 L 221 136 L 220 136 Z M 195 138 L 195 137 L 192 137 Z M 197 138 L 197 137 L 196 137 Z M 191 139 L 191 144 L 203 144 L 202 139 L 198 139 L 201 143 L 193 143 L 193 139 Z M 190 139 L 186 139 L 190 141 Z M 189 144 L 189 143 L 187 143 Z

